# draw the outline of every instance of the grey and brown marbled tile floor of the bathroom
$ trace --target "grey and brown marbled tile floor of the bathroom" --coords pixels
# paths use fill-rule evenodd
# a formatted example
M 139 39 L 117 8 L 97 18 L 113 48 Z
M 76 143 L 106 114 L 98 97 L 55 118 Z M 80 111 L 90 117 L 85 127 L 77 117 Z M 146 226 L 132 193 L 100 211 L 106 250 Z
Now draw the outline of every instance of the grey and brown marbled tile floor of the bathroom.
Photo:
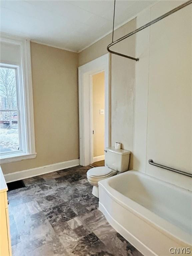
M 97 209 L 89 168 L 25 179 L 8 192 L 13 256 L 142 256 Z

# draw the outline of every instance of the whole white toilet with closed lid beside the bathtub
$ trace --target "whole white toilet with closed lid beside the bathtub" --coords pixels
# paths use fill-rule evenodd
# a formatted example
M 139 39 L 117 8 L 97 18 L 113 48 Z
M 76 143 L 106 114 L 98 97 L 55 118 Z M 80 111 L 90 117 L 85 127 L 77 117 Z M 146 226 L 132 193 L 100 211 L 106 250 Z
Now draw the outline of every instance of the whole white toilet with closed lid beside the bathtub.
M 87 172 L 87 180 L 93 186 L 92 194 L 99 198 L 98 182 L 128 170 L 130 151 L 108 147 L 105 149 L 105 166 L 94 167 Z

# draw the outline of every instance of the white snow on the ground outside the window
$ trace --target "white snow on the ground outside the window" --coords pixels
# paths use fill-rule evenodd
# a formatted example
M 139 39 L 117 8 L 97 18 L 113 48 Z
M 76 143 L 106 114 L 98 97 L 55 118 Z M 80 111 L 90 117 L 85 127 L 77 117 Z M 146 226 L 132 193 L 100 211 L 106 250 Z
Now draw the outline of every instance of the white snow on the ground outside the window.
M 18 150 L 18 129 L 0 129 L 0 146 L 11 150 Z

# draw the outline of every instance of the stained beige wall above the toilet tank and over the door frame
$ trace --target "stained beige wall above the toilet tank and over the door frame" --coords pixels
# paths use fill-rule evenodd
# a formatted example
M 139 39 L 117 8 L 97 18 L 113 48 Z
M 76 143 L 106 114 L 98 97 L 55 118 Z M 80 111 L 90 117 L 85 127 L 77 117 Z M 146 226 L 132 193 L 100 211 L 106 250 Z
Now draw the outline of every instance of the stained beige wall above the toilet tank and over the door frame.
M 136 28 L 133 19 L 115 30 L 117 39 Z M 112 34 L 79 53 L 79 66 L 107 53 Z M 113 47 L 121 53 L 135 56 L 135 36 Z M 111 55 L 111 145 L 121 142 L 122 148 L 133 151 L 135 61 Z M 132 168 L 132 155 L 130 166 Z

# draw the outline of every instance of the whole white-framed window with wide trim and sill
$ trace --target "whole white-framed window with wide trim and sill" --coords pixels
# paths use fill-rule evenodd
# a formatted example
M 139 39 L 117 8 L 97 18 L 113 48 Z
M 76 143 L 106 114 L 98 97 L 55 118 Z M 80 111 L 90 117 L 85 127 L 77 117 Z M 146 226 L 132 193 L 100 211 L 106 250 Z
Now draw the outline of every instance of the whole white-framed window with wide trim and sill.
M 6 35 L 1 38 L 2 47 L 4 51 L 0 63 L 0 162 L 7 163 L 35 158 L 36 153 L 30 42 Z

